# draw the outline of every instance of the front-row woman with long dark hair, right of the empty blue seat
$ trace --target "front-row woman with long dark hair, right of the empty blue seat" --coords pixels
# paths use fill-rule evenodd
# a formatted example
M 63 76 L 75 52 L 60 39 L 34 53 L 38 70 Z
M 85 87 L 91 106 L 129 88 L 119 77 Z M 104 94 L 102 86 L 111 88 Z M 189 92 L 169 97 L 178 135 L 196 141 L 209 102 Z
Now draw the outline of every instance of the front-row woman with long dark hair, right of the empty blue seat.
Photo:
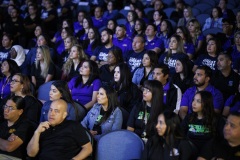
M 181 132 L 178 115 L 174 112 L 163 112 L 158 116 L 156 124 L 155 135 L 148 140 L 142 160 L 193 158 L 194 149 Z

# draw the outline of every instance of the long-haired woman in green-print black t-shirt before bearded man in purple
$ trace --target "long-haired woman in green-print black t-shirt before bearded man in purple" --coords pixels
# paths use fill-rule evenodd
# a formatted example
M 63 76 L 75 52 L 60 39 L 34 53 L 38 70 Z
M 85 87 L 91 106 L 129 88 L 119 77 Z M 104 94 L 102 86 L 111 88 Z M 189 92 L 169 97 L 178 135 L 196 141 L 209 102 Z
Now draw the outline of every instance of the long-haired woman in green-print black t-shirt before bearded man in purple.
M 192 101 L 193 113 L 182 121 L 182 129 L 197 152 L 212 138 L 223 138 L 225 120 L 214 112 L 213 97 L 208 91 L 199 91 Z

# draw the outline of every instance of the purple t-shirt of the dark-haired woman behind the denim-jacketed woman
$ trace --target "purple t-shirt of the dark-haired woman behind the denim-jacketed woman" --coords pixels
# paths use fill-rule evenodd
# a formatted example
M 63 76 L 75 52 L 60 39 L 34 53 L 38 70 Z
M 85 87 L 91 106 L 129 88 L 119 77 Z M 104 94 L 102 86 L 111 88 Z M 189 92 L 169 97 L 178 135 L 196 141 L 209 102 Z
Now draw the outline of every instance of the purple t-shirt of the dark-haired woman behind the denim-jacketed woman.
M 71 90 L 73 100 L 85 105 L 92 100 L 93 92 L 99 90 L 101 87 L 101 81 L 99 79 L 95 79 L 91 86 L 82 87 L 82 83 L 80 83 L 77 87 L 74 87 L 77 78 L 78 77 L 72 78 L 68 83 L 68 87 Z

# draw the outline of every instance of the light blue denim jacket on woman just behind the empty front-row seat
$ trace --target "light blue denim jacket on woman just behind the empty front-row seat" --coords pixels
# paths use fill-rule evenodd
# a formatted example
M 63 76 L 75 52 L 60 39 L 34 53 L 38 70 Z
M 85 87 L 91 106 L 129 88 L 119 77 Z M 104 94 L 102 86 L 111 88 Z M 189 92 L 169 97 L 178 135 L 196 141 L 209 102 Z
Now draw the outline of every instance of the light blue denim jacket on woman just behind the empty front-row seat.
M 93 108 L 88 112 L 88 114 L 85 116 L 85 118 L 82 120 L 81 124 L 83 127 L 92 130 L 94 123 L 100 114 L 101 111 L 101 105 L 98 103 L 95 103 Z M 121 129 L 122 127 L 122 111 L 117 107 L 108 117 L 108 119 L 101 124 L 102 134 Z M 95 135 L 94 138 L 96 140 L 99 139 L 101 135 Z

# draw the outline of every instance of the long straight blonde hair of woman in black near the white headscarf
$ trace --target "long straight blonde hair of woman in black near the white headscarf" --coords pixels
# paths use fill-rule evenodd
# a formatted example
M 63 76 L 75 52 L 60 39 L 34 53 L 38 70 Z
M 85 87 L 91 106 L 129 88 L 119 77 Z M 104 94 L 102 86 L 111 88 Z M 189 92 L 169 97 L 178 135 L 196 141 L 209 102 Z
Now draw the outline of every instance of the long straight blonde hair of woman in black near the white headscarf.
M 48 74 L 48 69 L 49 69 L 50 63 L 52 62 L 52 59 L 50 57 L 50 49 L 46 45 L 39 46 L 37 49 L 41 50 L 41 54 L 43 56 L 43 64 L 44 65 L 43 65 L 43 68 L 41 68 L 41 76 L 46 78 L 47 74 Z M 40 64 L 40 61 L 36 60 L 35 65 L 36 65 L 37 69 L 38 69 L 39 64 Z

